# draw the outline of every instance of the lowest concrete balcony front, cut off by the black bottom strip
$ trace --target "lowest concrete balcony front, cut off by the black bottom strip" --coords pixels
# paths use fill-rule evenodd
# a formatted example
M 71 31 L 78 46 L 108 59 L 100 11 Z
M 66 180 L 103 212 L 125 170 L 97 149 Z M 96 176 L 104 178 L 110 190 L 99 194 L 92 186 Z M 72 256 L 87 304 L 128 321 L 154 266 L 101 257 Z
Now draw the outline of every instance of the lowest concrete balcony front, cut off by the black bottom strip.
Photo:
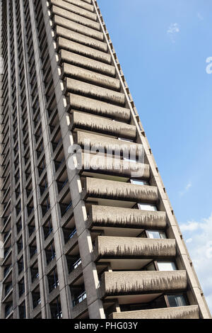
M 114 312 L 110 319 L 199 319 L 198 305 L 166 307 L 164 309 Z

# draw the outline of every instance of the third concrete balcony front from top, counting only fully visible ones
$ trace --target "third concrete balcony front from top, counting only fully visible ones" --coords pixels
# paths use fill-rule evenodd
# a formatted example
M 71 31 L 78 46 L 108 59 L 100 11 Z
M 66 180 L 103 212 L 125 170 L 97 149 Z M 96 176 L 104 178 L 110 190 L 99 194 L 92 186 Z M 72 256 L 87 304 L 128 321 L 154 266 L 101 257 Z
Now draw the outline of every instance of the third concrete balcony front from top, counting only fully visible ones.
M 94 49 L 103 52 L 107 52 L 107 44 L 100 42 L 100 40 L 81 35 L 81 33 L 76 33 L 61 26 L 56 26 L 55 30 L 58 36 L 68 38 L 69 40 L 73 40 L 73 42 L 82 43 L 83 45 L 93 47 Z

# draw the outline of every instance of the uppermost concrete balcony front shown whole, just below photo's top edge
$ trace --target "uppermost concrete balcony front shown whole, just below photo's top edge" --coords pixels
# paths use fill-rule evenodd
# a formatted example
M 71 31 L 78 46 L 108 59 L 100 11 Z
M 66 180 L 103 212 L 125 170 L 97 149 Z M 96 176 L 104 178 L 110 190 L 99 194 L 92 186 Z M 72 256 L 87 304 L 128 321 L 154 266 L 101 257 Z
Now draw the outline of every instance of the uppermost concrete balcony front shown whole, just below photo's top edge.
M 59 8 L 58 6 L 52 6 L 52 13 L 67 18 L 73 22 L 82 24 L 88 28 L 93 28 L 95 30 L 100 30 L 100 23 L 90 20 L 89 18 L 84 18 L 75 13 L 71 13 L 71 11 L 66 11 L 66 9 Z

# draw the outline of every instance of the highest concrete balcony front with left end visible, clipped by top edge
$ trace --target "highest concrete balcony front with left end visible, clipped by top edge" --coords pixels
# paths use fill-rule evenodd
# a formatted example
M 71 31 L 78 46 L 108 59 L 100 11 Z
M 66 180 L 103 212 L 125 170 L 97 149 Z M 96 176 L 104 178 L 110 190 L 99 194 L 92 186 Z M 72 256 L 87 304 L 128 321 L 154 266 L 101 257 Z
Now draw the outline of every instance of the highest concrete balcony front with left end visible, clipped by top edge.
M 73 0 L 72 0 L 73 1 Z M 78 4 L 79 2 L 83 1 L 77 1 Z M 81 8 L 80 6 L 76 6 L 75 4 L 71 4 L 71 1 L 63 1 L 63 0 L 51 0 L 52 5 L 59 6 L 63 9 L 67 9 L 67 11 L 71 11 L 72 13 L 81 15 L 85 18 L 89 18 L 90 20 L 97 21 L 97 15 L 95 13 L 92 13 L 86 9 Z

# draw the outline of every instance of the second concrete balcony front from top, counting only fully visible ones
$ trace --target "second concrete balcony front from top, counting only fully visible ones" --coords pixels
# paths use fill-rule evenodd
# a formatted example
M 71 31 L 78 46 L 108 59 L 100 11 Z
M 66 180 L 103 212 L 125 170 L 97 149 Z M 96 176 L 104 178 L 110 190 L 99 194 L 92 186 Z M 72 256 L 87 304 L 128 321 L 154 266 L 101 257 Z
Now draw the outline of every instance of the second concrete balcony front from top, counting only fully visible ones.
M 58 24 L 59 26 L 62 26 L 69 30 L 76 31 L 76 33 L 82 33 L 83 35 L 86 35 L 88 37 L 96 38 L 98 40 L 104 40 L 103 34 L 100 33 L 100 31 L 88 28 L 86 26 L 82 26 L 81 24 L 70 21 L 67 18 L 54 15 L 53 22 L 54 24 Z

